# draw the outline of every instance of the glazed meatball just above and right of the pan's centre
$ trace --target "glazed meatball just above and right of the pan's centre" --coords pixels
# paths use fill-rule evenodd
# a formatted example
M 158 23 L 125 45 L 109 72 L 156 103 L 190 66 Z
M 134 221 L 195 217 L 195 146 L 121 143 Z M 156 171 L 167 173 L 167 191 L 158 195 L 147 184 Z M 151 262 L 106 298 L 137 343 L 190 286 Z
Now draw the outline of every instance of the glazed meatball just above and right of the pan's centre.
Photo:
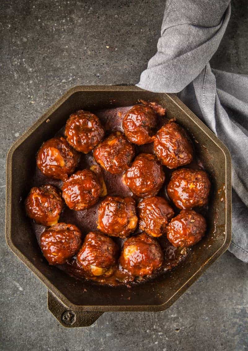
M 123 175 L 123 183 L 138 197 L 156 195 L 165 180 L 162 166 L 151 154 L 139 154 Z

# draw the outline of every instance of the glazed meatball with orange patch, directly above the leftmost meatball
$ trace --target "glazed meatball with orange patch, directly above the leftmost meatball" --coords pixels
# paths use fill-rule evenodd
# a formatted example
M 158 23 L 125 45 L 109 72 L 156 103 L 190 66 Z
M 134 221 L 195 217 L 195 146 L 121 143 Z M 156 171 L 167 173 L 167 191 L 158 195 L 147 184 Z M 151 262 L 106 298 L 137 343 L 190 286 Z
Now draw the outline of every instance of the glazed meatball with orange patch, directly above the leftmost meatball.
M 37 166 L 48 178 L 65 180 L 75 171 L 79 155 L 62 137 L 45 141 L 37 154 Z

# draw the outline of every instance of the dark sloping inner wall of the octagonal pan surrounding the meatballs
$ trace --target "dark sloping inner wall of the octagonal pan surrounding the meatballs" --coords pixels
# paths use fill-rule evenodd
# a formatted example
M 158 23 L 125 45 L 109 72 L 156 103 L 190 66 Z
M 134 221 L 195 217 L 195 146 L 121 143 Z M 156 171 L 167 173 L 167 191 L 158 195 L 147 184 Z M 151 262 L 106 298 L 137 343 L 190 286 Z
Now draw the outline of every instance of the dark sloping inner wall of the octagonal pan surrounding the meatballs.
M 167 108 L 168 118 L 175 117 L 189 134 L 194 136 L 197 153 L 209 173 L 212 184 L 208 211 L 207 235 L 193 247 L 193 252 L 182 264 L 158 279 L 137 285 L 101 286 L 82 282 L 68 276 L 43 258 L 30 221 L 25 215 L 23 201 L 31 186 L 35 171 L 35 154 L 44 140 L 54 136 L 68 116 L 78 109 L 96 111 L 103 108 L 131 106 L 139 99 L 155 101 Z M 193 115 L 194 116 L 194 115 Z M 78 306 L 157 306 L 169 300 L 226 242 L 227 200 L 226 157 L 215 141 L 201 130 L 197 119 L 185 113 L 170 95 L 147 91 L 75 91 L 49 115 L 14 150 L 11 185 L 11 240 L 27 260 L 42 274 L 49 289 L 55 286 L 71 303 Z M 45 279 L 43 278 L 45 277 Z

